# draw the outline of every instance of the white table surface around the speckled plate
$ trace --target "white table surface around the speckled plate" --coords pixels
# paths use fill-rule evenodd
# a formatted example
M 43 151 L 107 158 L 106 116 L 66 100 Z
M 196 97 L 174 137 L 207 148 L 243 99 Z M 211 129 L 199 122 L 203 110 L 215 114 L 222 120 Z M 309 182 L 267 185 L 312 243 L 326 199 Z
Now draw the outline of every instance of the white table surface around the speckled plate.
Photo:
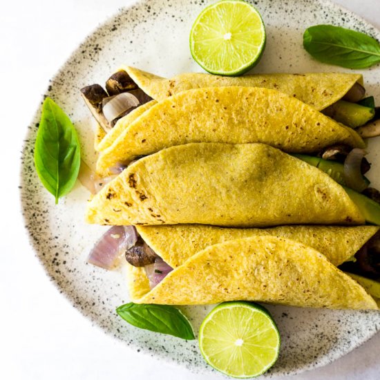
M 132 2 L 2 2 L 0 379 L 210 379 L 144 357 L 93 327 L 50 282 L 23 233 L 19 156 L 48 79 L 99 23 Z M 379 0 L 335 2 L 380 28 Z M 289 379 L 380 379 L 379 347 L 377 334 L 342 359 Z

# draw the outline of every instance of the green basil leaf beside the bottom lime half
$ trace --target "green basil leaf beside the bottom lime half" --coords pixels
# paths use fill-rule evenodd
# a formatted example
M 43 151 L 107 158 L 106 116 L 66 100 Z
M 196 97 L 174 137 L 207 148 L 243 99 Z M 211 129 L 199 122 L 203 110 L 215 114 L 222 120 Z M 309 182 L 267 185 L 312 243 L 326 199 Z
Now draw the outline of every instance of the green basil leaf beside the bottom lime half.
M 178 336 L 188 341 L 196 339 L 187 318 L 173 306 L 126 303 L 116 309 L 124 321 L 140 329 Z

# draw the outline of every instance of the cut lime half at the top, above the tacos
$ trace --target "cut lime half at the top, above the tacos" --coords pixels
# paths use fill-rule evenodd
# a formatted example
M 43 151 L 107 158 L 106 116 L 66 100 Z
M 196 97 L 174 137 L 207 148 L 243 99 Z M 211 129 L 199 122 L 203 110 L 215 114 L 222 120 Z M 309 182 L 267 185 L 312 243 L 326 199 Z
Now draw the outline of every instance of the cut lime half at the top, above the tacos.
M 209 73 L 240 75 L 255 66 L 265 48 L 260 13 L 240 0 L 211 4 L 193 23 L 190 50 Z

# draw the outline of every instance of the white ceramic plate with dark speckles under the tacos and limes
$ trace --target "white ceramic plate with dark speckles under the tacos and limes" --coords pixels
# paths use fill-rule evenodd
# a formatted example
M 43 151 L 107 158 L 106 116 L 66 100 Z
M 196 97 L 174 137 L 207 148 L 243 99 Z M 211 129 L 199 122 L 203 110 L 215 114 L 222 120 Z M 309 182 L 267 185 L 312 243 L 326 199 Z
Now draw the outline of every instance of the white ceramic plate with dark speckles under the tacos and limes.
M 100 26 L 75 50 L 51 80 L 47 95 L 70 115 L 82 142 L 84 158 L 93 162 L 93 121 L 79 96 L 79 88 L 104 83 L 122 63 L 164 76 L 200 68 L 191 59 L 189 30 L 207 1 L 149 0 L 120 12 Z M 302 48 L 303 30 L 317 23 L 334 23 L 367 32 L 380 39 L 368 23 L 328 1 L 259 0 L 254 4 L 267 26 L 267 48 L 254 69 L 258 73 L 344 71 L 319 64 Z M 368 93 L 380 102 L 380 68 L 365 70 Z M 139 330 L 124 323 L 115 307 L 128 301 L 122 272 L 105 272 L 86 264 L 88 251 L 104 228 L 84 223 L 87 191 L 79 184 L 59 205 L 47 193 L 33 169 L 33 146 L 40 110 L 28 127 L 23 150 L 21 196 L 26 227 L 37 257 L 75 307 L 108 334 L 137 350 L 184 365 L 194 372 L 214 372 L 202 360 L 196 341 Z M 376 146 L 377 145 L 377 146 Z M 375 187 L 380 187 L 379 142 L 370 144 Z M 380 326 L 378 312 L 310 310 L 270 306 L 281 331 L 281 355 L 270 372 L 289 374 L 325 365 L 370 338 Z M 195 330 L 205 307 L 189 307 Z M 215 376 L 217 376 L 216 372 Z

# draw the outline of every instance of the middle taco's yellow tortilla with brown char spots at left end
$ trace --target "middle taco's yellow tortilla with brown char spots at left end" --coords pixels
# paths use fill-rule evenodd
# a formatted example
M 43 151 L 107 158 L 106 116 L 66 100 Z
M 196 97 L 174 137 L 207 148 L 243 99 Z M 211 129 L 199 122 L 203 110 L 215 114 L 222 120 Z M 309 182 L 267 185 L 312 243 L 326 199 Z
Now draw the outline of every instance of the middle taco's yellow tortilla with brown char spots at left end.
M 363 225 L 343 187 L 265 144 L 172 146 L 126 168 L 89 202 L 89 223 L 229 227 Z

